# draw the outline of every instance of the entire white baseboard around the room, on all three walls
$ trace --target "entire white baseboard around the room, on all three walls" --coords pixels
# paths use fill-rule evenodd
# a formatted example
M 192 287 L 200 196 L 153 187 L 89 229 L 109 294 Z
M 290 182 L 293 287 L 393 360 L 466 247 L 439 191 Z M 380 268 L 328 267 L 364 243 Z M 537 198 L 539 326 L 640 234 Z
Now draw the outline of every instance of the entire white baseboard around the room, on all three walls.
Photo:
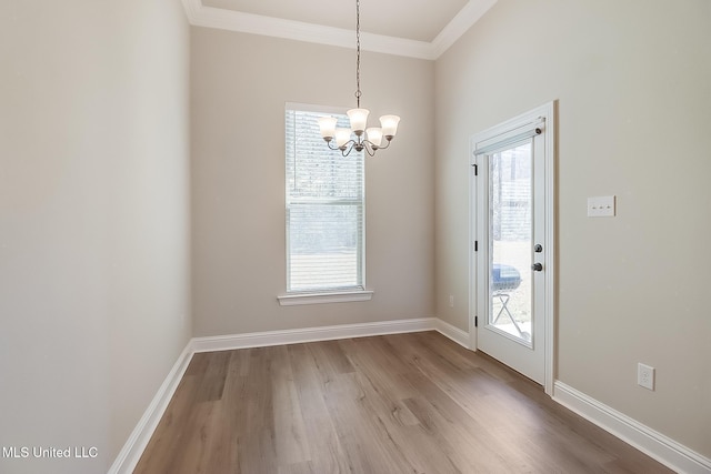
M 182 375 L 188 369 L 192 355 L 197 352 L 263 347 L 421 331 L 438 331 L 463 347 L 469 347 L 470 344 L 467 331 L 437 317 L 193 337 L 178 357 L 173 369 L 158 390 L 131 436 L 129 436 L 109 470 L 109 474 L 129 474 L 133 471 L 168 407 L 168 403 L 176 392 Z M 555 382 L 553 400 L 679 473 L 711 474 L 711 460 L 708 457 L 689 450 L 562 382 Z

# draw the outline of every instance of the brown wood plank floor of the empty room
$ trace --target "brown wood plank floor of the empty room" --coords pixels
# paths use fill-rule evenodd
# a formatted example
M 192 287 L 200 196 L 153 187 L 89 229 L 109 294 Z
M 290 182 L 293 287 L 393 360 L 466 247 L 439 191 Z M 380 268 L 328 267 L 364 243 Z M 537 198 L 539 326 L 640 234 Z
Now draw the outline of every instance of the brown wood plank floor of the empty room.
M 198 353 L 134 471 L 670 472 L 435 332 Z

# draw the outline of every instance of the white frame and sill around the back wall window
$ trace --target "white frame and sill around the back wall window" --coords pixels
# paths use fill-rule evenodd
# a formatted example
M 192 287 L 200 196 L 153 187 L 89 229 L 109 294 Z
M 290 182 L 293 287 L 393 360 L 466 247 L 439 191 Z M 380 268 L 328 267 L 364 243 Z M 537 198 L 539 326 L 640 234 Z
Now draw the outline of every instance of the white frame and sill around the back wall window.
M 346 108 L 333 108 L 333 107 L 323 107 L 323 105 L 312 105 L 312 104 L 303 104 L 303 103 L 293 103 L 287 102 L 284 109 L 284 117 L 288 111 L 300 111 L 300 112 L 314 112 L 320 114 L 332 114 L 332 115 L 346 115 Z M 327 143 L 318 137 L 320 144 L 327 148 Z M 287 130 L 284 131 L 284 143 L 286 147 L 289 147 L 289 140 L 287 137 Z M 354 152 L 354 151 L 353 151 Z M 340 157 L 340 152 L 334 151 L 333 153 L 338 153 L 339 158 L 343 160 L 353 159 L 353 157 Z M 362 153 L 362 152 L 361 152 Z M 288 160 L 288 154 L 286 155 L 286 160 Z M 363 157 L 364 160 L 364 157 Z M 287 163 L 286 163 L 287 164 Z M 331 288 L 323 286 L 318 289 L 309 289 L 308 291 L 299 291 L 291 289 L 290 274 L 291 274 L 291 254 L 290 254 L 290 225 L 289 225 L 289 206 L 290 206 L 290 192 L 289 192 L 289 170 L 286 168 L 286 231 L 287 231 L 287 248 L 286 248 L 286 265 L 287 265 L 287 293 L 279 295 L 279 304 L 282 306 L 287 305 L 298 305 L 298 304 L 319 304 L 319 303 L 337 303 L 337 302 L 353 302 L 353 301 L 368 301 L 372 299 L 373 291 L 365 290 L 365 170 L 363 163 L 362 170 L 362 192 L 361 192 L 361 208 L 362 208 L 362 222 L 361 225 L 361 235 L 359 239 L 359 281 L 354 286 L 348 288 Z M 303 204 L 303 202 L 301 203 Z

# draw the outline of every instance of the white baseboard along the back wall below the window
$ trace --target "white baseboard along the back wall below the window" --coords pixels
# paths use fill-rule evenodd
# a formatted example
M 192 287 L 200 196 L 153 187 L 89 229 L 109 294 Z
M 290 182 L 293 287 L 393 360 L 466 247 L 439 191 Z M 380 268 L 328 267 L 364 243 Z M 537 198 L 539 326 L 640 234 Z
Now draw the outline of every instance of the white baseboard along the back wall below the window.
M 370 335 L 439 331 L 437 321 L 439 321 L 437 317 L 419 317 L 414 320 L 394 320 L 362 324 L 340 324 L 334 326 L 193 337 L 192 349 L 194 352 L 230 351 L 233 349 L 266 347 L 269 345 L 333 341 Z M 444 335 L 450 337 L 448 334 Z

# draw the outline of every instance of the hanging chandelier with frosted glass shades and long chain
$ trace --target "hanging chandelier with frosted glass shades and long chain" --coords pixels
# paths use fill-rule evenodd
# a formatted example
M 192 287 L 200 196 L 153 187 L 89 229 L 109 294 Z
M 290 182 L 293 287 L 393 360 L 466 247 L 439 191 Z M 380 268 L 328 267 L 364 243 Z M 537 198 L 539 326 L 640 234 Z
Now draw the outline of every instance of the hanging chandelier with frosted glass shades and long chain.
M 384 150 L 390 147 L 390 142 L 398 132 L 398 115 L 382 115 L 380 118 L 380 128 L 367 128 L 368 109 L 360 108 L 360 0 L 356 0 L 356 100 L 358 105 L 356 109 L 349 110 L 348 118 L 351 122 L 350 129 L 337 128 L 338 119 L 336 117 L 323 117 L 319 119 L 319 128 L 321 137 L 331 150 L 340 150 L 343 157 L 348 157 L 354 149 L 356 151 L 365 150 L 368 154 L 373 157 L 375 151 Z M 356 138 L 351 138 L 356 134 Z M 385 139 L 385 145 L 382 145 L 382 139 Z M 332 141 L 336 139 L 336 148 Z

